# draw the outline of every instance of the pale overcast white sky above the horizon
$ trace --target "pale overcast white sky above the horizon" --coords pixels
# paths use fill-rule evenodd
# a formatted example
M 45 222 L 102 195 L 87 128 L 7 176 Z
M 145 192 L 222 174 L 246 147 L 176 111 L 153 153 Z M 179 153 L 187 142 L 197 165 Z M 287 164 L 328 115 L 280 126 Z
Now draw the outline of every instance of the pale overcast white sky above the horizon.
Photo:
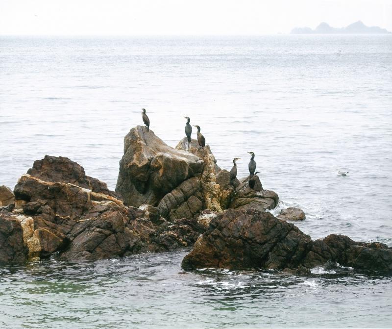
M 392 1 L 0 0 L 2 35 L 259 35 L 358 20 L 392 31 Z

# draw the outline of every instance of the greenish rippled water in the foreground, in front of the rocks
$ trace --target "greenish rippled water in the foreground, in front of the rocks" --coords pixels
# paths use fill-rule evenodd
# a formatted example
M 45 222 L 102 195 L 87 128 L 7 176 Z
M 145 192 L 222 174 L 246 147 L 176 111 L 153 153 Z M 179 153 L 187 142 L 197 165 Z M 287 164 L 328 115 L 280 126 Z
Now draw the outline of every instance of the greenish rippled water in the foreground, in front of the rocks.
M 186 251 L 1 269 L 2 328 L 390 327 L 391 277 L 185 272 Z M 329 273 L 328 273 L 329 272 Z M 334 273 L 335 272 L 335 273 Z

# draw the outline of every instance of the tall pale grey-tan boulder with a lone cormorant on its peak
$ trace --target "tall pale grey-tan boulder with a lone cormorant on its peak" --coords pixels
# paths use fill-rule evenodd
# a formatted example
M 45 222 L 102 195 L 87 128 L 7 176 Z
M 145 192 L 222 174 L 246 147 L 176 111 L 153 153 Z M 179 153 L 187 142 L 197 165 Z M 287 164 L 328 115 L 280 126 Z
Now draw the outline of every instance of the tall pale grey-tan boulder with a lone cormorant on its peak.
M 202 169 L 203 160 L 196 155 L 173 149 L 152 130 L 137 126 L 124 137 L 116 192 L 128 205 L 157 206 L 167 193 L 198 177 Z

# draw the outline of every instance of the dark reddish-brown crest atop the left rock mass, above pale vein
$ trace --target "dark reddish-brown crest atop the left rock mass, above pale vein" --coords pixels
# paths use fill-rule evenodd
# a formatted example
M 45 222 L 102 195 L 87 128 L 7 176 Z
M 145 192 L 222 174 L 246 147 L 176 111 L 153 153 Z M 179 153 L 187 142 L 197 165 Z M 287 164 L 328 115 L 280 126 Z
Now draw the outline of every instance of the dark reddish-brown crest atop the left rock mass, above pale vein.
M 82 166 L 66 157 L 45 155 L 43 159 L 34 161 L 33 167 L 27 171 L 27 174 L 41 180 L 71 183 L 93 192 L 121 198 L 116 192 L 110 191 L 106 183 L 86 176 Z

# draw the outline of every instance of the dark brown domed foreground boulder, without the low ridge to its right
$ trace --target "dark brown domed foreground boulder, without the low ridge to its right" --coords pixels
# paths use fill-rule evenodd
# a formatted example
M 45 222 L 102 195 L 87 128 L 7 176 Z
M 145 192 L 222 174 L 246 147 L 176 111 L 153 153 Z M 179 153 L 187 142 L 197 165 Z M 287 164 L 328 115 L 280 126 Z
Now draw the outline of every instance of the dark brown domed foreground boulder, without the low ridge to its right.
M 279 221 L 268 212 L 228 209 L 211 221 L 193 251 L 185 256 L 182 266 L 297 267 L 310 242 L 310 237 L 294 225 Z

